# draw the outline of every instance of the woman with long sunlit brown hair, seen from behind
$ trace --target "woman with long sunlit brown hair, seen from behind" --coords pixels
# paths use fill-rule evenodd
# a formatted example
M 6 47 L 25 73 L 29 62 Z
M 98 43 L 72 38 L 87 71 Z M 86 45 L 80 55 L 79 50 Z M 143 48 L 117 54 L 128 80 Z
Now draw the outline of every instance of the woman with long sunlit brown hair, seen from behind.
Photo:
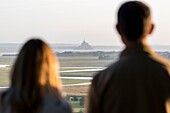
M 42 40 L 25 43 L 10 77 L 9 89 L 0 94 L 0 113 L 71 113 L 61 95 L 59 62 Z

